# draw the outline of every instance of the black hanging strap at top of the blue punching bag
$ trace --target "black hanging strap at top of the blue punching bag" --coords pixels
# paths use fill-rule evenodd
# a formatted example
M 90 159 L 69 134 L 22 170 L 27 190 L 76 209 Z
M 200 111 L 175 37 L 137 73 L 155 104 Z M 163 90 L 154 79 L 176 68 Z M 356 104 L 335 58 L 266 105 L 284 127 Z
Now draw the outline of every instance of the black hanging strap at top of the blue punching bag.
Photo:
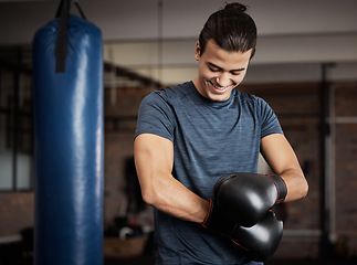
M 74 1 L 82 19 L 86 20 L 78 1 Z M 55 18 L 60 19 L 57 40 L 55 43 L 55 72 L 65 72 L 65 59 L 67 56 L 67 29 L 70 20 L 71 0 L 61 0 Z

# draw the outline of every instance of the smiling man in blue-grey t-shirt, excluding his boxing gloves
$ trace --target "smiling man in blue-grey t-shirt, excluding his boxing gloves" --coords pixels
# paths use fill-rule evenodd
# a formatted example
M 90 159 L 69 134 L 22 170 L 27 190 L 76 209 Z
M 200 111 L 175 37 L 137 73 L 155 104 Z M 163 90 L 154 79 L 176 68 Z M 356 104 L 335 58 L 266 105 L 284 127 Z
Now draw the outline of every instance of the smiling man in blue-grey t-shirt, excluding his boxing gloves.
M 285 201 L 307 193 L 273 110 L 235 89 L 255 52 L 255 23 L 245 10 L 229 3 L 210 15 L 196 45 L 198 76 L 140 105 L 134 152 L 143 198 L 155 208 L 157 264 L 259 264 L 234 240 L 200 224 L 217 181 L 256 173 L 260 152 L 285 183 Z

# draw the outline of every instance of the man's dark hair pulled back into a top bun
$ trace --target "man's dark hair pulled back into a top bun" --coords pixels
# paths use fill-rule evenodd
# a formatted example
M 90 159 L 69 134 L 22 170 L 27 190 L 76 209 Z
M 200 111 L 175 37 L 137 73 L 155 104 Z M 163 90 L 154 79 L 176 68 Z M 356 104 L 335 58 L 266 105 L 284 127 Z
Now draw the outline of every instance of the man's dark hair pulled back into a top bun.
M 234 2 L 212 13 L 199 35 L 200 54 L 206 43 L 213 40 L 220 47 L 229 52 L 255 53 L 256 26 L 253 19 L 245 12 L 246 6 Z

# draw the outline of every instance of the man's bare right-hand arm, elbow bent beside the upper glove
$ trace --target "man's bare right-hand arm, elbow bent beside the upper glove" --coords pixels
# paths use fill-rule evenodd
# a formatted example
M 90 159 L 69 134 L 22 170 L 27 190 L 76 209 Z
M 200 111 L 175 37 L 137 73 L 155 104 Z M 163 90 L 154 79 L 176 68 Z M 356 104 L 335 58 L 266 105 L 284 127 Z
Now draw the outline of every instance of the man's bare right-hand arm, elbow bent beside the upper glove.
M 307 194 L 307 181 L 284 135 L 274 134 L 264 137 L 261 140 L 261 151 L 273 172 L 281 176 L 286 183 L 285 201 L 298 200 Z

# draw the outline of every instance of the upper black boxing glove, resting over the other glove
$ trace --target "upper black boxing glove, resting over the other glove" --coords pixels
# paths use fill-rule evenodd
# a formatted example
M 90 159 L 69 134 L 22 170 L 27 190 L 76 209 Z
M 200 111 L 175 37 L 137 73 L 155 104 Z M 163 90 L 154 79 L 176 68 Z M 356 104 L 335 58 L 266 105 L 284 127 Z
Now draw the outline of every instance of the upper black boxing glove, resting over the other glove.
M 284 201 L 286 193 L 285 181 L 277 174 L 230 173 L 213 188 L 220 211 L 245 227 L 258 223 L 274 204 Z

